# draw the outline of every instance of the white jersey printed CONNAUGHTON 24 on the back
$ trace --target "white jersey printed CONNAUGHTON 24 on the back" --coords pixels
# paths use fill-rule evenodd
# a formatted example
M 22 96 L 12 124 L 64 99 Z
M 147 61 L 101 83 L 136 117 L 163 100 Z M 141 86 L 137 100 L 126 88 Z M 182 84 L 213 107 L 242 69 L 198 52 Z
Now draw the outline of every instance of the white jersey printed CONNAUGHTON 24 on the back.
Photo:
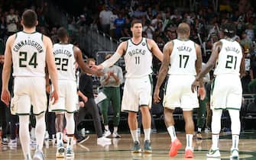
M 18 32 L 11 46 L 11 56 L 13 76 L 45 77 L 43 34 Z

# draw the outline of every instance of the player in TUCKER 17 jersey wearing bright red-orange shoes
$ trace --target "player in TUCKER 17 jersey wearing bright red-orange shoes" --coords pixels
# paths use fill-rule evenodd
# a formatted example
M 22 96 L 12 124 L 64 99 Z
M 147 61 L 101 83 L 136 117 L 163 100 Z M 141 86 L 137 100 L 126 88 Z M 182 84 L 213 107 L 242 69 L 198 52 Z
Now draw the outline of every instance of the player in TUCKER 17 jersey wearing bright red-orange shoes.
M 177 28 L 178 38 L 164 46 L 164 61 L 160 67 L 157 85 L 154 91 L 154 101 L 159 102 L 160 86 L 168 73 L 167 87 L 164 94 L 164 121 L 171 138 L 169 155 L 177 155 L 181 143 L 177 139 L 173 110 L 180 107 L 183 110 L 186 131 L 185 158 L 193 158 L 193 108 L 199 107 L 197 94 L 190 89 L 196 72 L 200 72 L 202 55 L 200 46 L 190 40 L 190 26 L 181 23 Z M 200 91 L 204 91 L 201 81 Z M 203 94 L 202 94 L 203 95 Z M 203 97 L 201 97 L 203 98 Z

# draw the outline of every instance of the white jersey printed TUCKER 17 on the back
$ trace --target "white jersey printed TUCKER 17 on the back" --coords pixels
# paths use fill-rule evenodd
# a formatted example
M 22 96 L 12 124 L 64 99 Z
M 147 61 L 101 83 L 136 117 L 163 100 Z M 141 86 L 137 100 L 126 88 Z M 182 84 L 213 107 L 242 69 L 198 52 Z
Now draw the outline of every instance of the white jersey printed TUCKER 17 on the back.
M 173 40 L 169 75 L 196 75 L 196 43 L 192 40 Z

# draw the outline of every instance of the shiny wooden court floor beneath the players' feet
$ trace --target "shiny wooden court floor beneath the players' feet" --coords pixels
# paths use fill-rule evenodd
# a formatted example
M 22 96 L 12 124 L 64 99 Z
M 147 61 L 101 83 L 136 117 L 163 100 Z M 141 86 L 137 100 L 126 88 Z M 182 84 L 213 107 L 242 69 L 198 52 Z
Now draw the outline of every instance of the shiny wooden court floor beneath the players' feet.
M 194 147 L 194 158 L 184 158 L 184 149 L 186 147 L 186 139 L 184 133 L 177 133 L 180 141 L 183 143 L 182 148 L 180 149 L 178 155 L 174 158 L 170 158 L 168 155 L 169 146 L 170 146 L 170 137 L 167 133 L 157 133 L 151 135 L 152 142 L 152 154 L 131 154 L 131 135 L 122 134 L 121 139 L 112 139 L 112 145 L 97 145 L 96 136 L 89 135 L 90 138 L 83 142 L 83 144 L 76 144 L 74 146 L 75 157 L 71 159 L 105 159 L 105 160 L 174 160 L 174 159 L 229 159 L 229 149 L 232 146 L 232 140 L 230 133 L 222 133 L 220 138 L 220 150 L 222 157 L 221 158 L 206 158 L 206 152 L 211 146 L 211 134 L 203 133 L 203 140 L 193 140 Z M 143 137 L 141 135 L 141 147 L 143 147 Z M 248 131 L 241 135 L 241 140 L 239 143 L 240 149 L 240 160 L 252 160 L 256 159 L 256 135 L 254 131 Z M 32 151 L 32 155 L 34 150 Z M 53 146 L 52 142 L 45 141 L 44 146 L 44 156 L 45 159 L 57 159 L 55 158 L 56 146 Z M 24 159 L 21 151 L 21 146 L 9 147 L 1 146 L 0 147 L 0 159 Z M 65 159 L 65 158 L 58 158 Z M 69 158 L 70 159 L 70 158 Z

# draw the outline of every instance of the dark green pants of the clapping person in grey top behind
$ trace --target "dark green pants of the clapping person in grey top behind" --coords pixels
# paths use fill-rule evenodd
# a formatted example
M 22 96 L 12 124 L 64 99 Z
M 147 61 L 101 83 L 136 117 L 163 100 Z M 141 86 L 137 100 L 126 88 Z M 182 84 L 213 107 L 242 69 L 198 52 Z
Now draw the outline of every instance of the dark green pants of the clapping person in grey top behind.
M 103 124 L 109 124 L 109 104 L 112 102 L 113 107 L 113 125 L 118 126 L 120 122 L 120 109 L 121 109 L 121 97 L 119 87 L 105 87 L 102 89 L 103 93 L 107 96 L 100 105 L 102 109 Z

